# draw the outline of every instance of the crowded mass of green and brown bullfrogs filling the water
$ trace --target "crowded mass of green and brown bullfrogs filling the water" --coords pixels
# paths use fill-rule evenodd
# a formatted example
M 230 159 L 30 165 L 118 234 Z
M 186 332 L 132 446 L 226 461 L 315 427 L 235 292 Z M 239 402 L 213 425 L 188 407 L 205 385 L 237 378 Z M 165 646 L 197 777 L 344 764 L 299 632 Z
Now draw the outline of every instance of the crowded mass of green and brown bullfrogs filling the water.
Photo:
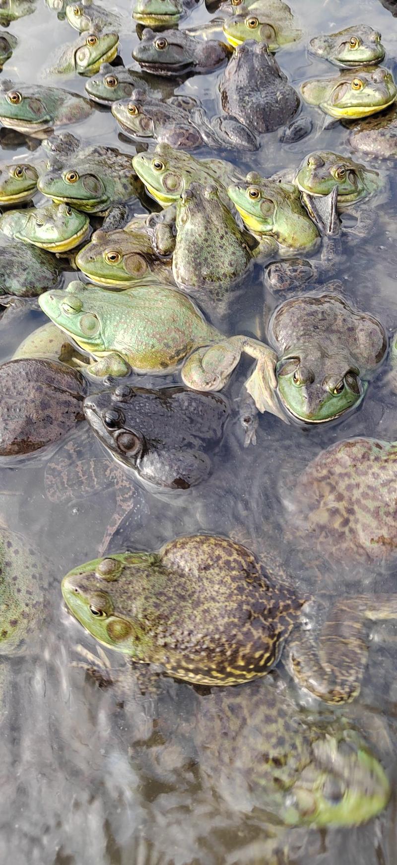
M 13 705 L 6 662 L 34 669 L 63 603 L 73 618 L 58 640 L 79 623 L 92 648 L 110 650 L 111 660 L 85 650 L 85 662 L 118 711 L 128 716 L 133 691 L 150 695 L 161 731 L 163 682 L 194 691 L 186 724 L 202 785 L 244 779 L 256 807 L 286 827 L 366 823 L 391 784 L 376 736 L 349 709 L 370 688 L 371 628 L 397 618 L 397 442 L 359 426 L 346 438 L 343 424 L 380 382 L 393 406 L 397 323 L 333 277 L 360 254 L 387 198 L 393 58 L 375 27 L 351 22 L 307 42 L 323 75 L 296 89 L 283 52 L 305 31 L 283 0 L 231 0 L 191 27 L 196 0 L 134 0 L 128 17 L 89 0 L 46 3 L 65 19 L 66 42 L 67 24 L 79 35 L 37 83 L 0 79 L 3 132 L 30 142 L 25 161 L 0 164 L 0 324 L 5 334 L 39 323 L 0 365 L 0 460 L 21 478 L 42 471 L 54 505 L 94 497 L 100 484 L 116 504 L 91 561 L 77 559 L 55 587 L 33 538 L 0 529 L 0 719 Z M 33 12 L 34 0 L 9 0 L 0 22 L 12 29 Z M 125 67 L 119 39 L 133 29 Z M 2 67 L 18 42 L 2 31 Z M 197 74 L 217 99 L 213 116 L 189 87 L 174 93 Z M 78 76 L 85 95 L 73 90 Z M 104 142 L 105 113 L 124 151 Z M 94 116 L 98 140 L 77 137 Z M 295 160 L 316 124 L 341 152 L 308 146 Z M 285 169 L 268 176 L 250 160 L 261 153 L 266 164 L 272 133 Z M 257 332 L 236 333 L 257 309 Z M 269 447 L 273 434 L 288 447 L 332 428 L 332 444 L 289 478 L 282 529 L 276 515 L 258 530 L 232 519 L 228 537 L 180 536 L 176 523 L 160 549 L 132 533 L 120 550 L 142 490 L 182 508 L 189 491 L 195 502 L 230 425 L 249 487 L 265 484 L 263 429 Z M 93 443 L 96 477 L 80 458 Z M 274 554 L 278 532 L 293 567 Z M 307 592 L 294 579 L 299 556 Z M 341 594 L 332 574 L 345 567 Z M 116 653 L 126 663 L 113 670 Z

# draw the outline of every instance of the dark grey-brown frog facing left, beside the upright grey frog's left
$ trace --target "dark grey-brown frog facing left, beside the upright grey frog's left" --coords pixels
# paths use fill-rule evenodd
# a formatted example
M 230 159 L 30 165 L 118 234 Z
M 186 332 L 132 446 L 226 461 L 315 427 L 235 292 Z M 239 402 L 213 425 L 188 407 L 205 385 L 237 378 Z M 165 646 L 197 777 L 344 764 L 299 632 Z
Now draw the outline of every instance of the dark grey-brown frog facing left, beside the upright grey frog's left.
M 208 73 L 223 65 L 230 55 L 224 42 L 202 42 L 183 30 L 155 33 L 145 28 L 132 57 L 145 71 L 157 75 Z M 244 122 L 244 121 L 243 121 Z

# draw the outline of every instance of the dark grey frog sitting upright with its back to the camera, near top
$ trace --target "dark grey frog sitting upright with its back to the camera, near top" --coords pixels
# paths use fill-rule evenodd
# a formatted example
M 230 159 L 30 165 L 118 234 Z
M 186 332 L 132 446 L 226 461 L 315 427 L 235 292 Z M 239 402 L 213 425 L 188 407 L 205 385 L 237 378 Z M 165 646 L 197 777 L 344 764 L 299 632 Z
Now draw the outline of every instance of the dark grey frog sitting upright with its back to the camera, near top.
M 300 102 L 266 43 L 253 39 L 235 49 L 219 90 L 222 110 L 255 133 L 272 132 L 285 125 Z

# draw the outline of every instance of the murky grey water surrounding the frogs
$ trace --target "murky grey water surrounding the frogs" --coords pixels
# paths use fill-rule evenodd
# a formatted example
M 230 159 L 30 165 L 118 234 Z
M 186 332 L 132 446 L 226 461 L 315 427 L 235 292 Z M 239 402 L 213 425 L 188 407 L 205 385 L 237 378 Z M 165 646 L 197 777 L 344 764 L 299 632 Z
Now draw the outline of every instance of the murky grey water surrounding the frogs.
M 304 38 L 278 56 L 280 66 L 298 86 L 302 80 L 330 71 L 325 61 L 308 56 L 305 44 L 313 35 L 362 22 L 379 29 L 387 50 L 385 65 L 397 64 L 397 22 L 387 10 L 393 3 L 379 0 L 292 0 Z M 131 24 L 127 0 L 119 0 L 125 13 L 126 32 L 120 37 L 119 54 L 131 65 L 131 49 L 137 35 Z M 189 27 L 208 20 L 205 6 L 189 18 Z M 182 24 L 184 26 L 184 23 Z M 75 31 L 57 19 L 43 0 L 33 16 L 13 22 L 10 31 L 19 45 L 6 64 L 3 76 L 22 81 L 44 81 L 69 86 L 85 93 L 84 78 L 50 82 L 43 68 L 53 51 L 72 42 Z M 129 32 L 131 31 L 131 32 Z M 218 73 L 189 78 L 176 93 L 202 99 L 212 115 L 217 106 Z M 298 165 L 317 149 L 349 154 L 348 131 L 336 124 L 324 128 L 323 115 L 304 107 L 313 129 L 309 138 L 280 146 L 277 133 L 262 138 L 257 153 L 244 154 L 240 164 L 266 176 Z M 131 141 L 118 136 L 116 121 L 106 109 L 97 108 L 71 131 L 86 141 L 118 145 L 135 152 Z M 1 158 L 29 160 L 32 147 L 16 133 L 0 132 Z M 205 148 L 198 156 L 208 156 Z M 217 154 L 219 155 L 219 154 Z M 235 154 L 227 153 L 228 158 Z M 367 160 L 368 161 L 368 160 Z M 381 319 L 392 333 L 397 328 L 396 189 L 394 164 L 372 160 L 387 176 L 387 193 L 375 202 L 376 219 L 368 237 L 343 248 L 333 277 L 342 280 L 344 296 Z M 39 200 L 39 196 L 37 196 Z M 144 208 L 140 208 L 144 212 Z M 138 208 L 134 208 L 138 212 Z M 66 282 L 76 272 L 66 274 Z M 232 333 L 246 332 L 264 338 L 266 322 L 278 304 L 263 288 L 257 267 L 245 292 L 227 321 Z M 264 312 L 265 310 L 265 312 Z M 22 338 L 45 321 L 37 310 L 6 322 L 0 320 L 0 361 L 13 354 Z M 234 374 L 225 394 L 235 408 L 248 362 Z M 179 381 L 178 375 L 139 377 L 138 384 L 157 387 Z M 131 685 L 131 699 L 122 705 L 115 689 L 99 688 L 93 678 L 73 662 L 82 644 L 96 654 L 94 641 L 75 623 L 61 601 L 60 580 L 69 568 L 92 559 L 116 517 L 119 527 L 110 550 L 157 549 L 177 535 L 208 531 L 231 535 L 247 546 L 278 561 L 293 576 L 298 591 L 312 589 L 318 580 L 313 561 L 303 548 L 291 542 L 285 531 L 288 493 L 311 458 L 324 447 L 355 435 L 396 438 L 397 397 L 385 375 L 372 384 L 362 406 L 336 426 L 303 429 L 285 426 L 266 414 L 259 420 L 257 444 L 244 448 L 244 431 L 238 412 L 227 422 L 221 444 L 212 455 L 208 481 L 191 490 L 158 491 L 136 477 L 130 478 L 131 509 L 125 514 L 118 485 L 106 471 L 110 458 L 85 423 L 57 448 L 39 457 L 0 465 L 0 512 L 10 529 L 21 532 L 40 546 L 50 562 L 48 621 L 32 656 L 16 658 L 5 674 L 11 690 L 9 713 L 3 718 L 0 737 L 0 862 L 12 865 L 394 865 L 397 848 L 395 795 L 387 809 L 367 825 L 356 829 L 282 832 L 277 810 L 258 793 L 253 797 L 233 756 L 220 768 L 217 726 L 202 724 L 203 705 L 213 721 L 217 709 L 213 695 L 195 693 L 189 686 L 164 679 L 157 703 L 141 697 Z M 58 459 L 67 456 L 73 441 L 86 459 L 97 459 L 97 489 L 76 483 L 74 492 L 56 503 L 48 498 L 48 476 L 56 473 Z M 71 458 L 71 471 L 74 458 Z M 94 484 L 93 484 L 94 485 Z M 125 499 L 123 499 L 125 501 Z M 309 550 L 306 551 L 307 558 Z M 311 557 L 312 558 L 312 557 Z M 331 557 L 330 557 L 331 559 Z M 320 567 L 324 567 L 323 563 Z M 333 567 L 321 574 L 337 597 L 349 586 L 365 586 L 377 593 L 390 591 L 394 573 Z M 385 587 L 386 586 L 386 587 Z M 370 662 L 362 692 L 343 710 L 372 743 L 393 785 L 396 775 L 397 692 L 395 663 L 397 631 L 383 625 L 375 631 Z M 84 659 L 82 659 L 84 660 Z M 114 653 L 112 667 L 121 665 Z M 11 670 L 11 676 L 10 676 Z M 291 685 L 286 672 L 270 676 L 274 688 L 285 688 L 301 711 L 316 718 L 314 701 Z M 241 697 L 246 711 L 257 689 L 244 686 Z M 241 692 L 241 689 L 240 689 Z M 265 692 L 264 692 L 265 693 Z M 211 702 L 212 700 L 212 702 Z M 201 701 L 203 701 L 201 706 Z M 298 711 L 298 708 L 297 708 Z M 342 710 L 336 710 L 341 714 Z M 313 721 L 314 722 L 314 721 Z M 233 731 L 230 733 L 233 736 Z M 240 745 L 249 748 L 252 737 L 240 729 Z M 266 749 L 266 722 L 256 735 Z M 256 748 L 258 745 L 255 746 Z M 254 757 L 255 754 L 255 757 Z M 257 752 L 253 751 L 253 759 Z M 264 791 L 265 793 L 266 791 Z M 278 852 L 274 853 L 277 849 Z M 272 857 L 276 856 L 276 859 Z

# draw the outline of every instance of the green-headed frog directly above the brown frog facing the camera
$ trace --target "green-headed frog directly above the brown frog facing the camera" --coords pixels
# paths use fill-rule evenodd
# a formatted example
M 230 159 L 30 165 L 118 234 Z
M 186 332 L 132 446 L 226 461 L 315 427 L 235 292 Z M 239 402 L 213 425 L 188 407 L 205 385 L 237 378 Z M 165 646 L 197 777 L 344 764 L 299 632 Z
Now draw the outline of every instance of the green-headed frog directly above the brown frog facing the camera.
M 295 183 L 301 192 L 330 195 L 337 186 L 337 205 L 343 209 L 381 189 L 378 171 L 330 151 L 316 151 L 301 163 Z

